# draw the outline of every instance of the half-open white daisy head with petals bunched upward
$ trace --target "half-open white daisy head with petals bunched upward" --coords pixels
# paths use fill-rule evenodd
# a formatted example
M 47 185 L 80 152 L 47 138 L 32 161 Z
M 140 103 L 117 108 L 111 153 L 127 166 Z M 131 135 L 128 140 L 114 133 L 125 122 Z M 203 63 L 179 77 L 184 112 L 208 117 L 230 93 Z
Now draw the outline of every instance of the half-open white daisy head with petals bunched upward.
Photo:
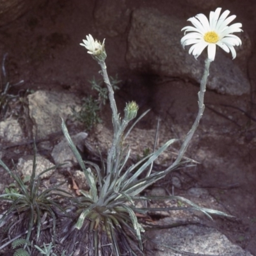
M 105 39 L 101 44 L 98 40 L 94 40 L 92 35 L 89 34 L 86 36 L 86 40 L 83 40 L 83 44 L 80 45 L 84 46 L 95 60 L 104 61 L 107 57 L 104 42 Z

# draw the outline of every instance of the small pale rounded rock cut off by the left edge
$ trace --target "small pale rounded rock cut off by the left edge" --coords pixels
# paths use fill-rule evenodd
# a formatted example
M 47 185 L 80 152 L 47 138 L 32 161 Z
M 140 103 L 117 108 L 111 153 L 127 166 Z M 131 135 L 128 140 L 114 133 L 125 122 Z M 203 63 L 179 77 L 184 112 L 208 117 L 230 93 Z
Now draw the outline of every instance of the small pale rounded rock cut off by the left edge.
M 10 141 L 12 143 L 17 143 L 22 141 L 24 134 L 16 119 L 7 118 L 6 120 L 0 122 L 0 138 L 3 140 Z

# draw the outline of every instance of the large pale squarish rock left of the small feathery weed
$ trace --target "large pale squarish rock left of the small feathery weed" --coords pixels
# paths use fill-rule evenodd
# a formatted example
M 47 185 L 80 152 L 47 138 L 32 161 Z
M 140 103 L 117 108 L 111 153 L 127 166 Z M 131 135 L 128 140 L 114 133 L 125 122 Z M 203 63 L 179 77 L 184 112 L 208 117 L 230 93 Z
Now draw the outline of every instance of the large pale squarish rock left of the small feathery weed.
M 79 99 L 71 93 L 37 91 L 28 95 L 29 116 L 33 120 L 33 134 L 38 139 L 61 132 L 61 117 L 72 115 L 72 106 Z

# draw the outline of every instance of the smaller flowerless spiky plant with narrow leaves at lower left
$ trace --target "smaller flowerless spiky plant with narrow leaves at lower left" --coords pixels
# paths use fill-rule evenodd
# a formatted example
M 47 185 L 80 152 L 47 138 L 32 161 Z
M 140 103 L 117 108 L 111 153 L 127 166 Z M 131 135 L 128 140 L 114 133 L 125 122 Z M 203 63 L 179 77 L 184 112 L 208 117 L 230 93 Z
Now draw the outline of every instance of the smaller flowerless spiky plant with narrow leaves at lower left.
M 67 194 L 67 191 L 63 191 L 58 187 L 61 184 L 58 184 L 52 188 L 45 189 L 41 191 L 41 175 L 45 172 L 49 172 L 50 170 L 56 169 L 58 166 L 53 166 L 52 168 L 48 168 L 36 175 L 36 146 L 34 143 L 34 157 L 33 157 L 33 170 L 32 175 L 29 180 L 29 184 L 26 185 L 24 180 L 22 180 L 17 173 L 17 170 L 14 166 L 14 171 L 12 172 L 0 159 L 0 165 L 3 166 L 4 170 L 10 174 L 12 179 L 15 181 L 16 188 L 8 189 L 8 193 L 4 193 L 0 195 L 0 200 L 4 200 L 6 202 L 11 202 L 8 210 L 3 214 L 0 219 L 0 225 L 4 225 L 8 223 L 8 220 L 17 212 L 19 214 L 25 214 L 24 216 L 28 220 L 28 233 L 26 236 L 26 240 L 29 240 L 31 236 L 31 231 L 36 226 L 36 241 L 40 236 L 40 230 L 42 227 L 42 216 L 46 213 L 52 218 L 52 230 L 53 237 L 55 239 L 56 236 L 56 214 L 54 213 L 54 207 L 60 209 L 60 211 L 65 212 L 65 209 L 61 207 L 58 196 L 63 197 L 63 193 Z M 13 164 L 14 165 L 14 164 Z M 26 182 L 26 180 L 25 180 Z M 61 192 L 62 194 L 58 193 Z M 64 195 L 65 195 L 64 194 Z

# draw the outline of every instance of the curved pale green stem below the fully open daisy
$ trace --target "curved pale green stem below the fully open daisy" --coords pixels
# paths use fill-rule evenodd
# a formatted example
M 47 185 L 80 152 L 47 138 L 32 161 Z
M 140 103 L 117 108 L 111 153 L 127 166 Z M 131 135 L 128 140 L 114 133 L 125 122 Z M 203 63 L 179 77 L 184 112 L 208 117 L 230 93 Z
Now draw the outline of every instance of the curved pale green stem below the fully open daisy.
M 196 120 L 194 124 L 191 127 L 191 130 L 188 132 L 184 142 L 182 143 L 182 146 L 180 147 L 180 151 L 178 154 L 177 159 L 175 162 L 170 166 L 172 168 L 176 164 L 179 164 L 180 160 L 184 156 L 184 153 L 186 152 L 186 149 L 188 148 L 189 142 L 191 141 L 191 138 L 193 137 L 196 128 L 198 127 L 199 121 L 202 118 L 202 115 L 204 113 L 204 93 L 206 89 L 206 83 L 207 83 L 207 77 L 209 76 L 209 67 L 210 67 L 211 61 L 207 58 L 205 60 L 205 68 L 204 68 L 204 74 L 200 83 L 200 92 L 198 92 L 198 114 L 196 116 Z M 168 168 L 169 169 L 169 168 Z

